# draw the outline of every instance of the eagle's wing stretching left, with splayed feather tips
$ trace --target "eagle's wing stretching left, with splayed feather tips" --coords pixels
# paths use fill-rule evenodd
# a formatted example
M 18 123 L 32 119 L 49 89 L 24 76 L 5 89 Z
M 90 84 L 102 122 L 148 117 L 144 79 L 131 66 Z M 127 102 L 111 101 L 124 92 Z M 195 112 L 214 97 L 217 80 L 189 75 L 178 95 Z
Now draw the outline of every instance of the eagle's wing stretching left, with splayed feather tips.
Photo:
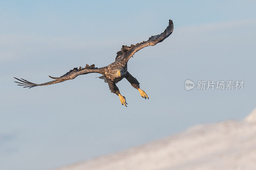
M 81 68 L 81 67 L 79 67 L 79 69 L 74 68 L 73 70 L 70 70 L 69 72 L 67 72 L 66 74 L 64 74 L 63 76 L 60 76 L 58 78 L 49 76 L 50 78 L 55 79 L 55 80 L 46 82 L 46 83 L 42 83 L 42 84 L 31 83 L 22 78 L 21 78 L 21 80 L 18 78 L 15 78 L 15 77 L 14 78 L 20 81 L 20 82 L 15 81 L 15 83 L 19 83 L 18 85 L 31 88 L 31 87 L 36 87 L 36 86 L 40 86 L 40 85 L 52 85 L 55 83 L 60 83 L 60 82 L 66 81 L 66 80 L 74 79 L 79 75 L 88 74 L 88 73 L 101 73 L 101 69 L 95 68 L 94 64 L 92 64 L 90 66 L 88 64 L 86 64 L 85 68 Z

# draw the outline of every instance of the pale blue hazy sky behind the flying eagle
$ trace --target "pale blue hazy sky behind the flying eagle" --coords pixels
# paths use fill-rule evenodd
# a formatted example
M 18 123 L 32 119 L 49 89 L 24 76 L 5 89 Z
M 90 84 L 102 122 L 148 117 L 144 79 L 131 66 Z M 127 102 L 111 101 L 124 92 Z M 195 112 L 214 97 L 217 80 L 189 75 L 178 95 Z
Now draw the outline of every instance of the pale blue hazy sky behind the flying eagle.
M 1 1 L 0 169 L 49 169 L 138 146 L 198 123 L 243 119 L 255 104 L 255 1 Z M 23 89 L 85 64 L 106 66 L 121 46 L 174 31 L 134 55 L 117 84 L 98 74 Z M 184 89 L 184 81 L 244 80 L 243 90 Z

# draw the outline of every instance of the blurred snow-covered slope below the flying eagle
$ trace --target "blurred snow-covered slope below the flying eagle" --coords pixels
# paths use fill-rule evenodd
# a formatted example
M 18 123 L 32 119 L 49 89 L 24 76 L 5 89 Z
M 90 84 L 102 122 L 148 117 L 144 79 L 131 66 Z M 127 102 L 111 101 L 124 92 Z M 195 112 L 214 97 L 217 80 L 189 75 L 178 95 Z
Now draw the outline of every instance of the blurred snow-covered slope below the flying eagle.
M 243 122 L 196 125 L 186 131 L 58 170 L 255 170 L 256 110 Z

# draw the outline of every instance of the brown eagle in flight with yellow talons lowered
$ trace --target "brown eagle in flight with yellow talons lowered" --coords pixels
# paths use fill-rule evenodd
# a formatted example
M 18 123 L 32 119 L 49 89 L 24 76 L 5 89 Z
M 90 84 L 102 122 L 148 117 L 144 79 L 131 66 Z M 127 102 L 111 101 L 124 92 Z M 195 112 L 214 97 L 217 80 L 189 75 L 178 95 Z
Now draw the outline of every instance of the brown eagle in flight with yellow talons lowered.
M 164 30 L 163 33 L 151 36 L 148 41 L 143 41 L 140 43 L 137 43 L 136 45 L 126 46 L 123 45 L 121 50 L 118 51 L 116 54 L 116 60 L 114 63 L 109 64 L 108 66 L 97 68 L 94 64 L 88 65 L 86 64 L 84 68 L 81 66 L 79 68 L 74 68 L 73 70 L 68 71 L 66 74 L 60 77 L 51 77 L 54 79 L 53 81 L 42 83 L 42 84 L 36 84 L 31 83 L 23 78 L 17 79 L 19 82 L 15 81 L 15 83 L 18 83 L 20 86 L 32 88 L 36 86 L 42 86 L 42 85 L 52 85 L 55 83 L 60 83 L 66 80 L 72 80 L 76 78 L 79 75 L 88 74 L 88 73 L 100 73 L 102 76 L 98 77 L 100 79 L 104 79 L 106 83 L 108 83 L 109 89 L 111 92 L 115 93 L 117 96 L 119 96 L 119 99 L 121 101 L 121 104 L 127 107 L 127 102 L 124 96 L 120 94 L 120 91 L 118 87 L 116 86 L 116 83 L 121 81 L 123 78 L 126 78 L 129 83 L 131 83 L 132 87 L 137 89 L 140 92 L 140 96 L 144 99 L 148 98 L 148 95 L 140 89 L 140 83 L 136 78 L 134 78 L 128 71 L 127 71 L 127 62 L 133 55 L 139 51 L 140 49 L 147 47 L 147 46 L 154 46 L 159 42 L 164 41 L 167 37 L 169 37 L 172 34 L 173 31 L 173 23 L 172 20 L 169 20 L 169 25 Z M 148 98 L 149 99 L 149 98 Z

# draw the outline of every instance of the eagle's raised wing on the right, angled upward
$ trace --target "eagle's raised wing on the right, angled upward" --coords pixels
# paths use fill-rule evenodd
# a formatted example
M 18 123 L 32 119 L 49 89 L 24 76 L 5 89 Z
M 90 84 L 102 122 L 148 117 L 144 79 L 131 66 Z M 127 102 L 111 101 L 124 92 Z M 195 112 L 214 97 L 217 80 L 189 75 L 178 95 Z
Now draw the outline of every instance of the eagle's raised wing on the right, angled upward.
M 154 46 L 158 42 L 164 41 L 167 37 L 169 37 L 172 34 L 173 31 L 173 23 L 172 20 L 169 20 L 169 26 L 164 30 L 163 33 L 159 35 L 151 36 L 148 41 L 143 41 L 141 43 L 137 43 L 136 45 L 131 46 L 122 46 L 121 51 L 118 51 L 116 54 L 116 61 L 125 56 L 127 61 L 140 49 L 147 47 L 147 46 Z

